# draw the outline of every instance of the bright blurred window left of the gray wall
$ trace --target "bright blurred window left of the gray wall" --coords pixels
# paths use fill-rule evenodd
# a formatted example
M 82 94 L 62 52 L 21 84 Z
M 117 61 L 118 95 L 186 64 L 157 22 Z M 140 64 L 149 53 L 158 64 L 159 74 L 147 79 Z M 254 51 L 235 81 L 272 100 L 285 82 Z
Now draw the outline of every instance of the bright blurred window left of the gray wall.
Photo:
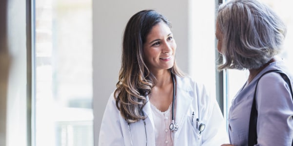
M 36 146 L 93 146 L 91 0 L 35 0 Z

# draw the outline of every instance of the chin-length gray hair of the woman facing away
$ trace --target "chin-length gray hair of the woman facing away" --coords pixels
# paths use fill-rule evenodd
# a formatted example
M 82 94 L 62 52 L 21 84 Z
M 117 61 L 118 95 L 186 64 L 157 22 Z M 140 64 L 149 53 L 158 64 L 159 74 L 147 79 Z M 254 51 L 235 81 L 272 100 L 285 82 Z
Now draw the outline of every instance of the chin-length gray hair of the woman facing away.
M 282 50 L 284 22 L 257 0 L 230 0 L 221 4 L 217 23 L 223 34 L 223 69 L 258 69 Z

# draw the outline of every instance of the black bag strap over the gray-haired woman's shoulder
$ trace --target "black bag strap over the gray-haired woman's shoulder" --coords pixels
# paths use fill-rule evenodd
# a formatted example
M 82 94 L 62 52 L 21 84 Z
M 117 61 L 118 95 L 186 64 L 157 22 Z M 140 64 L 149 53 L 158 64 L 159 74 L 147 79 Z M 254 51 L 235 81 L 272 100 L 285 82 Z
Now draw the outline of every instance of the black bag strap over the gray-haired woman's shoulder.
M 251 107 L 251 115 L 250 115 L 250 121 L 249 121 L 249 133 L 248 133 L 248 146 L 254 146 L 257 144 L 257 133 L 256 133 L 256 123 L 257 123 L 257 110 L 256 110 L 256 102 L 255 102 L 255 96 L 256 96 L 256 89 L 257 89 L 257 85 L 258 85 L 258 81 L 259 79 L 267 74 L 267 73 L 272 73 L 272 72 L 275 72 L 275 73 L 280 73 L 280 75 L 282 76 L 282 78 L 286 81 L 286 83 L 289 85 L 289 88 L 290 88 L 290 91 L 291 91 L 291 96 L 292 96 L 292 99 L 293 99 L 293 91 L 292 91 L 292 85 L 291 85 L 291 82 L 290 82 L 290 79 L 289 77 L 283 73 L 282 71 L 280 70 L 270 70 L 270 71 L 267 71 L 265 73 L 263 73 L 257 80 L 256 82 L 256 86 L 255 86 L 255 91 L 254 91 L 254 94 L 253 94 L 253 102 L 252 102 L 252 107 Z M 292 146 L 293 146 L 293 140 L 292 140 Z

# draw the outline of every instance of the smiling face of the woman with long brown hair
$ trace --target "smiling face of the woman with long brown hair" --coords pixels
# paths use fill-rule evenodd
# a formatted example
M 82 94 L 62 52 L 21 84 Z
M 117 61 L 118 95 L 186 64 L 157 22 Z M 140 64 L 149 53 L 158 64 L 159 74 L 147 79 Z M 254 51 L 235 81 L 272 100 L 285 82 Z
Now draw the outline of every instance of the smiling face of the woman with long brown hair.
M 174 64 L 176 43 L 170 28 L 164 22 L 153 26 L 146 37 L 144 56 L 151 72 L 170 69 Z

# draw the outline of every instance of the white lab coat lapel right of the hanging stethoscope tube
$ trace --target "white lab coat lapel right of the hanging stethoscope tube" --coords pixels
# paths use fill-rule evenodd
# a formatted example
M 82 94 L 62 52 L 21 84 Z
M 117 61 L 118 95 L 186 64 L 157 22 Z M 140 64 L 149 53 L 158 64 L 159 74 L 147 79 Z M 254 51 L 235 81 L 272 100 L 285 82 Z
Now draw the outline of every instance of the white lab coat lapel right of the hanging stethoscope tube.
M 180 128 L 180 125 L 183 125 L 183 123 L 187 120 L 187 112 L 190 108 L 190 105 L 192 103 L 193 98 L 190 96 L 188 92 L 192 91 L 190 84 L 184 84 L 183 79 L 181 77 L 176 76 L 177 81 L 177 93 L 176 93 L 176 117 L 175 121 L 176 124 L 178 124 L 179 129 L 175 132 L 174 140 L 178 138 L 178 135 L 182 128 Z

